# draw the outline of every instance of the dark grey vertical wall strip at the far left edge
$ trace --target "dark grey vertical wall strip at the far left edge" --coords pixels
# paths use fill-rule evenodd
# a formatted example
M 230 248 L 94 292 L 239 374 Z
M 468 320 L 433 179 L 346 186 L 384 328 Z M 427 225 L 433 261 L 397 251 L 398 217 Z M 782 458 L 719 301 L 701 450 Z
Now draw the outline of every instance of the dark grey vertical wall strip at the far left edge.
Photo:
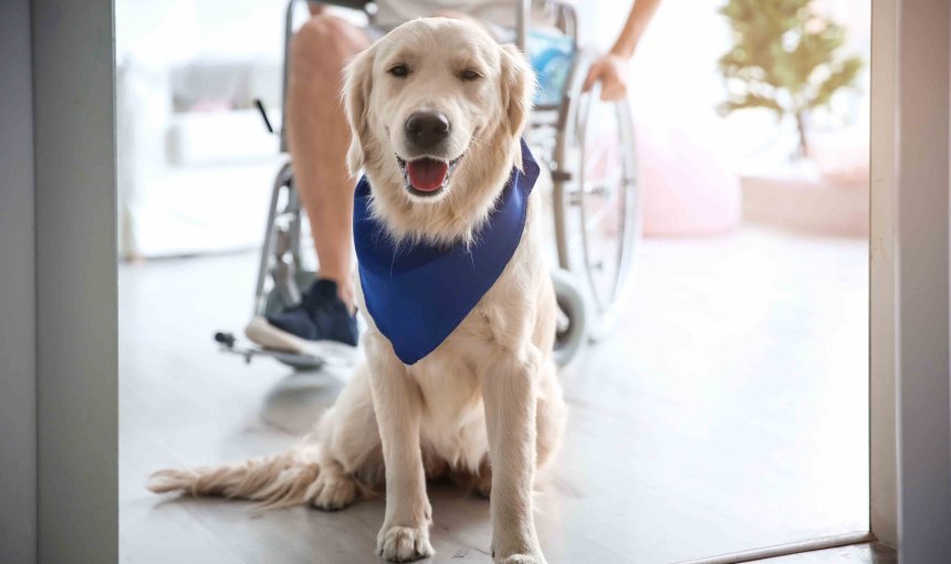
M 36 558 L 30 0 L 0 3 L 0 560 Z

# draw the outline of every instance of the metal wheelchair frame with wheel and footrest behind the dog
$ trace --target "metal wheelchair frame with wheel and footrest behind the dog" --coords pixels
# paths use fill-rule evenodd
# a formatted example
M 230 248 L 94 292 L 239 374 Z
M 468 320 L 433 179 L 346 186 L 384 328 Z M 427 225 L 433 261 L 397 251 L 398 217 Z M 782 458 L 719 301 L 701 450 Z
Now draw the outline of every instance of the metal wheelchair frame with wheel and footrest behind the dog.
M 294 15 L 299 2 L 310 0 L 289 0 L 284 29 L 284 62 L 282 100 L 286 101 L 290 75 L 290 45 L 294 33 Z M 363 0 L 332 0 L 321 2 L 368 13 L 372 3 Z M 519 48 L 530 56 L 529 19 L 532 0 L 518 0 L 516 41 Z M 607 295 L 596 283 L 596 258 L 592 252 L 592 241 L 586 224 L 587 215 L 596 208 L 596 197 L 607 188 L 595 186 L 585 179 L 585 143 L 591 135 L 591 112 L 596 101 L 596 92 L 582 94 L 582 84 L 594 55 L 582 51 L 578 45 L 578 18 L 574 7 L 566 0 L 545 0 L 544 7 L 552 9 L 556 25 L 572 38 L 575 46 L 575 61 L 572 64 L 567 83 L 563 91 L 562 103 L 555 106 L 536 107 L 532 113 L 525 136 L 533 147 L 542 148 L 539 159 L 547 165 L 552 176 L 553 228 L 557 269 L 552 272 L 558 301 L 558 334 L 555 359 L 560 365 L 567 364 L 579 351 L 586 338 L 599 338 L 612 326 L 617 306 L 623 301 L 631 268 L 633 251 L 640 233 L 639 192 L 636 184 L 636 161 L 634 157 L 634 132 L 627 101 L 609 103 L 615 111 L 618 127 L 618 142 L 621 148 L 617 197 L 620 199 L 620 236 L 615 250 L 614 280 L 608 284 Z M 259 104 L 268 122 L 263 106 Z M 285 135 L 286 113 L 282 112 L 280 149 L 288 152 Z M 552 135 L 554 134 L 554 135 Z M 577 160 L 578 170 L 569 166 Z M 290 160 L 278 171 L 274 180 L 271 203 L 265 227 L 264 241 L 258 270 L 252 315 L 263 316 L 282 307 L 300 302 L 301 288 L 306 288 L 314 273 L 305 269 L 301 257 L 302 208 L 293 186 L 293 170 Z M 283 198 L 282 198 L 282 195 Z M 574 217 L 574 219 L 573 219 Z M 572 221 L 579 221 L 581 237 L 572 237 Z M 581 246 L 581 249 L 573 247 Z M 268 278 L 273 280 L 268 288 Z M 579 280 L 581 279 L 581 280 Z M 250 362 L 252 356 L 269 355 L 297 368 L 315 368 L 324 359 L 313 355 L 289 355 L 254 348 L 236 348 L 234 338 L 228 334 L 216 335 L 223 349 L 236 352 Z

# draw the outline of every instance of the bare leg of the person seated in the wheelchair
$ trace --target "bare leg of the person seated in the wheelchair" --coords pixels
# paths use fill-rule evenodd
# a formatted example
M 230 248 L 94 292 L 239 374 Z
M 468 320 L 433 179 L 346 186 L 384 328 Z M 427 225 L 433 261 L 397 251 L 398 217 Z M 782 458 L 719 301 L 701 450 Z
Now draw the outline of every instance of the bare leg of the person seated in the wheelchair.
M 332 15 L 314 15 L 291 43 L 288 81 L 288 143 L 295 187 L 311 221 L 318 276 L 336 282 L 339 297 L 351 307 L 354 182 L 346 169 L 351 133 L 341 88 L 344 65 L 369 44 L 358 28 Z

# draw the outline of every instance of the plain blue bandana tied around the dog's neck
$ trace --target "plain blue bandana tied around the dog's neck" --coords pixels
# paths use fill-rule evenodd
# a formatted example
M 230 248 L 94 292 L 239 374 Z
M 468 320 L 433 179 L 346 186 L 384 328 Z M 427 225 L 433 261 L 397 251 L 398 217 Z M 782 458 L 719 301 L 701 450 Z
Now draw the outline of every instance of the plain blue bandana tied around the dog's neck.
M 513 168 L 495 210 L 476 243 L 395 246 L 370 217 L 369 181 L 354 197 L 354 243 L 367 313 L 407 365 L 436 349 L 492 288 L 515 253 L 539 165 L 522 140 L 522 168 Z

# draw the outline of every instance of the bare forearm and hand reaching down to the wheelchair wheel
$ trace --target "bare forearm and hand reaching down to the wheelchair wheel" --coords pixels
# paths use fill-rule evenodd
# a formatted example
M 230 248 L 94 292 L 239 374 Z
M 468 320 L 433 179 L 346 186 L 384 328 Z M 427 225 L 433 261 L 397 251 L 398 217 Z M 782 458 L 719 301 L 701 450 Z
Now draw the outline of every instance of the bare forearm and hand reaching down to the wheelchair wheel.
M 627 62 L 634 55 L 637 43 L 659 4 L 660 0 L 634 1 L 624 29 L 620 30 L 610 51 L 595 61 L 588 71 L 584 84 L 585 92 L 600 82 L 600 98 L 604 101 L 620 100 L 627 94 Z

